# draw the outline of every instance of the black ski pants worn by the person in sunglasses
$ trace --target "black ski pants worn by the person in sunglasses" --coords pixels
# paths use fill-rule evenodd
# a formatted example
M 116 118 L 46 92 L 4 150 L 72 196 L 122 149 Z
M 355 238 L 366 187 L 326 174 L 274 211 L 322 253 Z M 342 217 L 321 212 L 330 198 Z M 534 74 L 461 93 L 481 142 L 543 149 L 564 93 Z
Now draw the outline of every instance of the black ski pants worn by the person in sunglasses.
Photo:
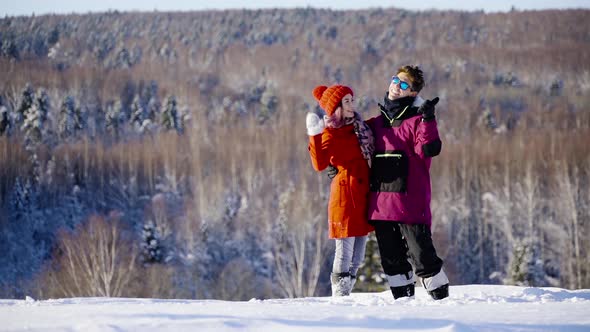
M 432 277 L 440 272 L 443 261 L 436 254 L 428 225 L 382 220 L 372 220 L 371 224 L 375 226 L 385 274 L 405 274 L 412 271 L 412 265 L 416 275 L 421 278 Z

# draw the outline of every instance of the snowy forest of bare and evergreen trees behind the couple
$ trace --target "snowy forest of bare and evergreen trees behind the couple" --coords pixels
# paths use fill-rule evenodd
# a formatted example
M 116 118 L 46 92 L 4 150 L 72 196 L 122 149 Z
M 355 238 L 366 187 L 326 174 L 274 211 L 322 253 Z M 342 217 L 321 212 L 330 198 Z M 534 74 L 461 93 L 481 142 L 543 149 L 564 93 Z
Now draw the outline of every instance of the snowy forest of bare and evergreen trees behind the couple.
M 590 11 L 0 18 L 0 298 L 329 294 L 318 84 L 439 96 L 452 284 L 590 287 Z M 386 289 L 376 244 L 356 291 Z

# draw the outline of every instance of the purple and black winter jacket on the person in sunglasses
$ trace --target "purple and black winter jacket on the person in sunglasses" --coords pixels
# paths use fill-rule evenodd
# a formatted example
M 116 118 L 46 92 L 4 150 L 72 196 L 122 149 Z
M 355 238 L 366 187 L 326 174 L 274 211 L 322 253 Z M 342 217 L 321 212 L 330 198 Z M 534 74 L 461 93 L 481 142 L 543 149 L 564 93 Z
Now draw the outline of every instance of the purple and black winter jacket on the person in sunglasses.
M 369 220 L 432 223 L 430 164 L 442 143 L 436 120 L 424 122 L 417 113 L 423 102 L 400 98 L 380 105 L 381 115 L 367 120 L 375 136 Z

